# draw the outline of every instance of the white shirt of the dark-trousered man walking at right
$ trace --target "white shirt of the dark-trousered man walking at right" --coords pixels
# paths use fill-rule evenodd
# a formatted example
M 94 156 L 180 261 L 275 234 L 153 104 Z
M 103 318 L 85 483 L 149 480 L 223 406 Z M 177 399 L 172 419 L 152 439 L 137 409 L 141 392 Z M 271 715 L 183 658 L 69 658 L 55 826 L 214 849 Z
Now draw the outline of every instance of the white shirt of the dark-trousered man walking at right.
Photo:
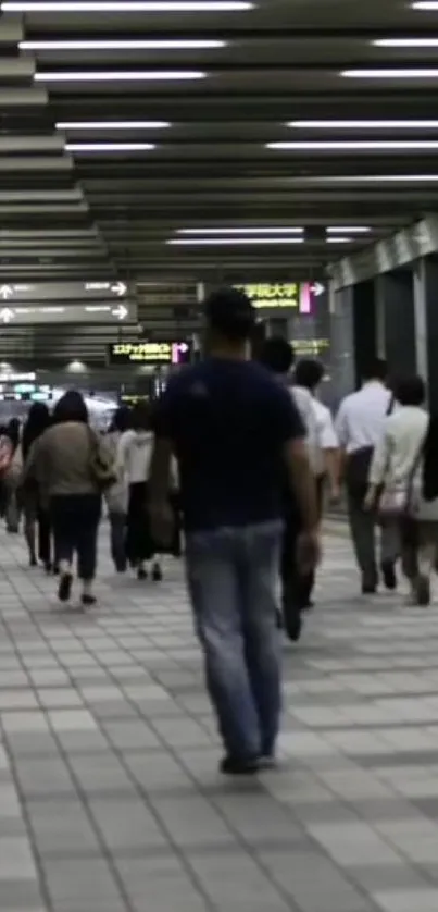
M 335 428 L 339 444 L 347 453 L 376 446 L 385 429 L 390 391 L 378 380 L 365 383 L 340 404 Z

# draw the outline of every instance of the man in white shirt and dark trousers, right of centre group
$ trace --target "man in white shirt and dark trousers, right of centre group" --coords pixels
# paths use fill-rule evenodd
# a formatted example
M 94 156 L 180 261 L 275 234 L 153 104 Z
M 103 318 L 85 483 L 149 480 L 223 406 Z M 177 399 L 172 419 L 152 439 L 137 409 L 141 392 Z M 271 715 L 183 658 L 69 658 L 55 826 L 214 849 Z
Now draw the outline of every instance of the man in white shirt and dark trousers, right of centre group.
M 375 446 L 381 439 L 393 395 L 386 386 L 386 361 L 377 358 L 363 373 L 362 389 L 347 396 L 335 422 L 340 445 L 340 471 L 345 475 L 348 515 L 355 557 L 362 574 L 362 592 L 374 594 L 378 586 L 376 514 L 364 508 L 368 471 Z M 387 589 L 397 587 L 395 563 L 398 537 L 391 525 L 381 529 L 380 569 Z

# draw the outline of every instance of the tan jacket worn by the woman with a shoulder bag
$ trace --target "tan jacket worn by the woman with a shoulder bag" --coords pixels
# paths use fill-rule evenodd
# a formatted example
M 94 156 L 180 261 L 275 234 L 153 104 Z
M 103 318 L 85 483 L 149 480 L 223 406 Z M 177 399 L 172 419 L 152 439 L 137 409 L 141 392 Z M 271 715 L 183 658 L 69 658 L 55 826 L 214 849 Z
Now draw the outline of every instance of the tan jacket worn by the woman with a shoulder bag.
M 90 430 L 70 421 L 54 424 L 35 442 L 24 475 L 34 478 L 47 497 L 98 494 L 90 463 Z

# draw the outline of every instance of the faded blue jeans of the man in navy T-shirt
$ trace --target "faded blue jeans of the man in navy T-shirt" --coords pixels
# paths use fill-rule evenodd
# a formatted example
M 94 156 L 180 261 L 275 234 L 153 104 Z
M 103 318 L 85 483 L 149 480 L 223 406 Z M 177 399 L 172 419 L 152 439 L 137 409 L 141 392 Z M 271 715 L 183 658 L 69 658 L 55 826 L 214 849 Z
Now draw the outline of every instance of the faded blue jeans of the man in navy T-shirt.
M 187 535 L 189 594 L 207 685 L 229 755 L 271 755 L 280 715 L 275 587 L 281 523 Z

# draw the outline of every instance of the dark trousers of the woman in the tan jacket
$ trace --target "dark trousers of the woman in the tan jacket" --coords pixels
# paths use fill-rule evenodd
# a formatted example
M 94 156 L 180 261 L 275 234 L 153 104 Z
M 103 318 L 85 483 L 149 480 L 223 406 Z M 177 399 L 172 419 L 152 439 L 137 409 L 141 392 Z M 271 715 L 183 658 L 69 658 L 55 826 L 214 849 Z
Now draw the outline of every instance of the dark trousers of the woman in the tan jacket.
M 98 494 L 70 494 L 52 497 L 50 506 L 57 559 L 72 563 L 77 554 L 80 579 L 96 576 L 101 497 Z

